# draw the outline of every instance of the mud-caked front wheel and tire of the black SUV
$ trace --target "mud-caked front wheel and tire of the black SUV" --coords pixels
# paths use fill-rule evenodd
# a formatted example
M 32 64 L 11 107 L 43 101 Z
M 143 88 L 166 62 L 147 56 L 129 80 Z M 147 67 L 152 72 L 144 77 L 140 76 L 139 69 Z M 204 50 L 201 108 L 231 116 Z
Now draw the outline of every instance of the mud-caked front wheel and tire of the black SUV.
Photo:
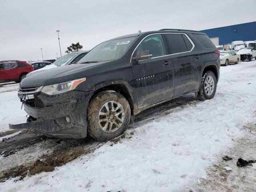
M 130 123 L 131 110 L 124 96 L 115 91 L 98 93 L 88 106 L 88 134 L 100 141 L 120 136 Z

